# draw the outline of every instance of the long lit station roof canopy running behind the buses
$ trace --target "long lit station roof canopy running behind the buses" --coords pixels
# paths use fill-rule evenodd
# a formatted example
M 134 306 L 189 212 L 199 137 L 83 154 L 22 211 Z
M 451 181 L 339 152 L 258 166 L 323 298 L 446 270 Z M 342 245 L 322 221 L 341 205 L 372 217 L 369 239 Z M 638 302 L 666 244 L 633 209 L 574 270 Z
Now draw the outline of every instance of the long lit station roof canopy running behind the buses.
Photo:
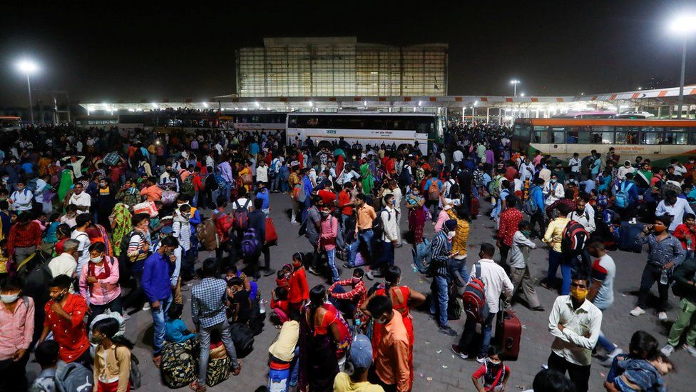
M 624 91 L 580 96 L 277 96 L 238 97 L 235 94 L 216 96 L 207 100 L 193 99 L 132 102 L 93 102 L 80 104 L 88 111 L 150 111 L 164 108 L 273 110 L 297 109 L 414 109 L 414 108 L 477 108 L 497 109 L 566 109 L 585 108 L 618 110 L 620 107 L 657 107 L 677 103 L 679 88 Z M 696 85 L 685 86 L 684 103 L 696 104 Z

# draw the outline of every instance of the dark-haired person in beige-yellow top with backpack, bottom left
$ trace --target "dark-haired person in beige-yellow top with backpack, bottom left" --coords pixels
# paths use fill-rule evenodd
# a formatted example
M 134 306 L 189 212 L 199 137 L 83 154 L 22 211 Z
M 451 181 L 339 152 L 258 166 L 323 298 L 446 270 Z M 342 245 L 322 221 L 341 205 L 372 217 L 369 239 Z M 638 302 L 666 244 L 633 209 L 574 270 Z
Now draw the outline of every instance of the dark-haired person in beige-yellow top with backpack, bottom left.
M 96 392 L 131 391 L 131 350 L 133 343 L 117 336 L 116 318 L 103 318 L 92 329 L 94 350 L 94 382 Z

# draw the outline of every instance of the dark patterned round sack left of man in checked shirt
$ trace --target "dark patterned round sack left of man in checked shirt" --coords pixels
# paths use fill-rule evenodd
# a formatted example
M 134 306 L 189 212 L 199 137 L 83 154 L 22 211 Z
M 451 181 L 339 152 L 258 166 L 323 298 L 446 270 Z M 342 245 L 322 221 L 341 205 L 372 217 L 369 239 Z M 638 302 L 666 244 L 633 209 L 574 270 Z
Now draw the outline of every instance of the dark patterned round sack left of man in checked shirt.
M 167 343 L 162 348 L 162 381 L 169 388 L 187 386 L 198 376 L 198 366 L 185 343 Z

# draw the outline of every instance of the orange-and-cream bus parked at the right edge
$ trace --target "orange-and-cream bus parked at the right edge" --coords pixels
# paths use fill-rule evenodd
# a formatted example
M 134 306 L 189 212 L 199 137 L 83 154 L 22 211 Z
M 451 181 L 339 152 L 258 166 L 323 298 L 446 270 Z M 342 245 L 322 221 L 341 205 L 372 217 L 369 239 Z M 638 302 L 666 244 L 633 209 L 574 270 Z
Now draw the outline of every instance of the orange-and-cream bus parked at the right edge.
M 661 119 L 516 119 L 513 149 L 567 160 L 574 153 L 605 154 L 610 147 L 622 161 L 636 156 L 667 166 L 696 155 L 696 121 Z

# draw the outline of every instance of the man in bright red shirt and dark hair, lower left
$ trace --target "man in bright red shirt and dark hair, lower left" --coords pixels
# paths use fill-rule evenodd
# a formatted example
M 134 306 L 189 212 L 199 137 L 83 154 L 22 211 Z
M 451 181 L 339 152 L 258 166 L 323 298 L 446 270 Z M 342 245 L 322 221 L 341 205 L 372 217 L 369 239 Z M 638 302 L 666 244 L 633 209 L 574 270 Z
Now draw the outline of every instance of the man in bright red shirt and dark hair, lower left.
M 48 283 L 51 300 L 44 306 L 46 320 L 39 343 L 52 332 L 53 340 L 61 345 L 59 355 L 63 362 L 77 362 L 91 368 L 93 359 L 84 321 L 87 303 L 82 296 L 70 293 L 72 283 L 73 279 L 67 275 L 58 275 Z

